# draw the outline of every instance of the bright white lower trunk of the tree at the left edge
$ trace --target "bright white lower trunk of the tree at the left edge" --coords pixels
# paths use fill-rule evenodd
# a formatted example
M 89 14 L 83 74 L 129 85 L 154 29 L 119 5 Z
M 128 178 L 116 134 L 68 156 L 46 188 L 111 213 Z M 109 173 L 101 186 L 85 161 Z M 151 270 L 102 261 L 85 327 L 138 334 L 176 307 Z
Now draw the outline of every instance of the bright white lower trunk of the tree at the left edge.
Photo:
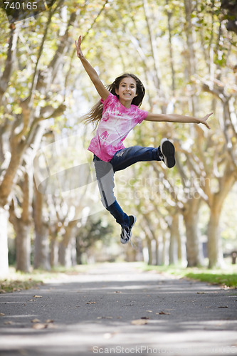
M 9 273 L 9 249 L 7 244 L 7 221 L 9 212 L 0 207 L 0 278 Z

